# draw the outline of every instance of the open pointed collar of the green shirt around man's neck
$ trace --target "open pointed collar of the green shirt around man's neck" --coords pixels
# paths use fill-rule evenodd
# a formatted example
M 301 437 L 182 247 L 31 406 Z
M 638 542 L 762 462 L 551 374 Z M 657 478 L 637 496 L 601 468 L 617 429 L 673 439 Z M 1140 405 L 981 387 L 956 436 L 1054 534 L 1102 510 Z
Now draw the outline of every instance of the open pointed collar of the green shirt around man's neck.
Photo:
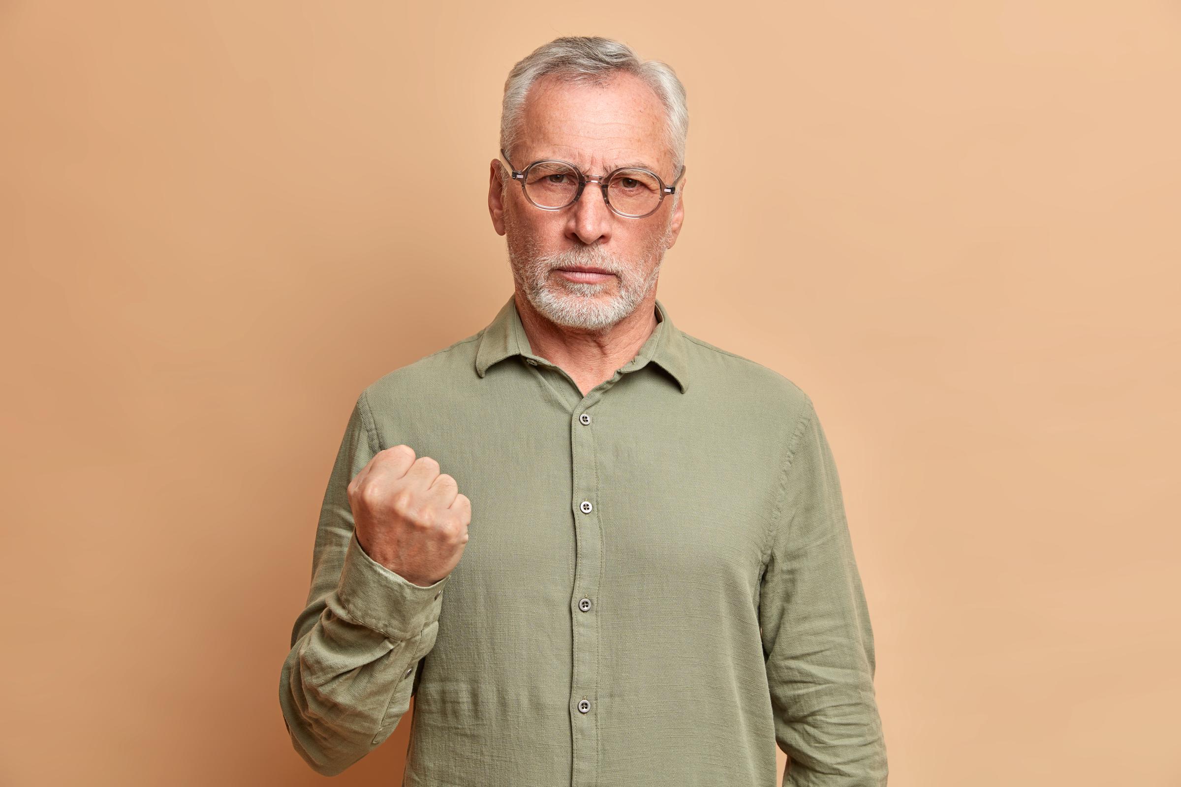
M 648 361 L 654 361 L 660 368 L 673 376 L 681 393 L 689 388 L 689 363 L 685 352 L 685 337 L 672 323 L 668 309 L 655 299 L 657 327 L 652 335 L 647 337 L 640 350 L 631 361 L 621 367 L 621 372 L 633 372 L 642 368 Z M 479 336 L 479 346 L 476 350 L 476 374 L 481 378 L 488 372 L 488 367 L 498 361 L 503 361 L 510 355 L 521 355 L 527 359 L 548 363 L 546 359 L 535 355 L 529 345 L 529 337 L 524 333 L 521 323 L 521 315 L 516 308 L 516 294 L 496 313 L 492 321 L 488 323 Z

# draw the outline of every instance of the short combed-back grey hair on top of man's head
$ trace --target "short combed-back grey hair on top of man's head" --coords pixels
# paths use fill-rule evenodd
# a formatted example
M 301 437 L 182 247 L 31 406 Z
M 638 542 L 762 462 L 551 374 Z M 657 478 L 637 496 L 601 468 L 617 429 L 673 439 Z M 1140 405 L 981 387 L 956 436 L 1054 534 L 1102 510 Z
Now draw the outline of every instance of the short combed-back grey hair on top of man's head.
M 667 145 L 668 152 L 672 153 L 673 177 L 676 177 L 685 163 L 685 139 L 689 137 L 685 87 L 667 64 L 660 60 L 640 60 L 626 44 L 596 35 L 555 38 L 513 66 L 509 78 L 504 81 L 501 147 L 508 155 L 513 155 L 526 96 L 539 78 L 554 74 L 562 81 L 605 85 L 616 72 L 631 73 L 642 79 L 664 104 Z M 520 163 L 517 165 L 522 166 Z M 503 171 L 501 178 L 502 181 L 505 178 Z

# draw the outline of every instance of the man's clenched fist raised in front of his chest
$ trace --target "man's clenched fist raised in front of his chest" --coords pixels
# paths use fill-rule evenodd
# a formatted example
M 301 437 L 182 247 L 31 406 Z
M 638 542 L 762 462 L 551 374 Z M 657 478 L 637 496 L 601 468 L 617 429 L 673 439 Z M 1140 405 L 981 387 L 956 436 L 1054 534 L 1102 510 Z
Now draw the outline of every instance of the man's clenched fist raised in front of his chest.
M 365 553 L 416 585 L 449 575 L 468 543 L 471 500 L 407 445 L 370 459 L 348 483 L 348 506 Z

